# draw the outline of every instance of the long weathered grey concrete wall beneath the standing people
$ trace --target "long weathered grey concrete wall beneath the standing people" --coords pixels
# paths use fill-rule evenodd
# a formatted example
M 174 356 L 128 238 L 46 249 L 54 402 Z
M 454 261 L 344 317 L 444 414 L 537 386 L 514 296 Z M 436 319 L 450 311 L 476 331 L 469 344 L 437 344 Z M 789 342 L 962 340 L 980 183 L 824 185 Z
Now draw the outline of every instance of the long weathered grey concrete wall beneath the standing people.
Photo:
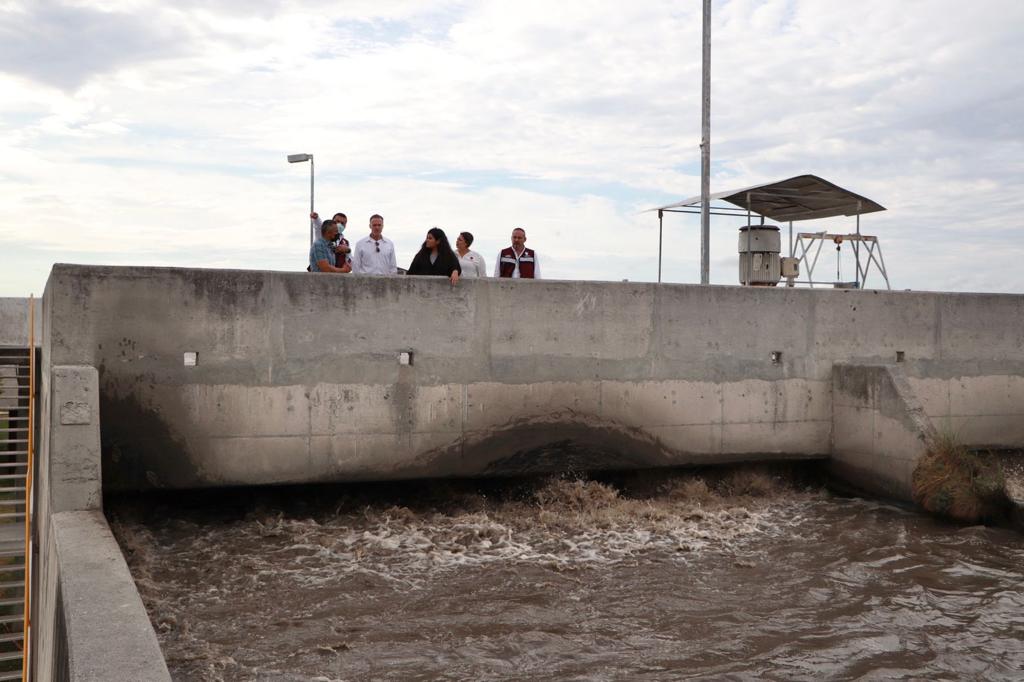
M 893 403 L 844 366 L 1024 444 L 1022 296 L 57 265 L 43 316 L 44 381 L 98 371 L 105 489 L 837 452 L 870 474 Z

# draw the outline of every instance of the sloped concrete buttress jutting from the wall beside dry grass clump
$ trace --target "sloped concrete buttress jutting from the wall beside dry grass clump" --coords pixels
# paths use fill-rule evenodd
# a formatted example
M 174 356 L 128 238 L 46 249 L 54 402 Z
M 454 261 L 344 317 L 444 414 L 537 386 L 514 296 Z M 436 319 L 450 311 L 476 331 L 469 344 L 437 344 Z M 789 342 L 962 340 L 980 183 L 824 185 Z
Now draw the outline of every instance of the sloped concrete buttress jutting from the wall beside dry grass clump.
M 830 468 L 868 493 L 912 499 L 913 470 L 935 436 L 902 372 L 891 366 L 833 368 Z

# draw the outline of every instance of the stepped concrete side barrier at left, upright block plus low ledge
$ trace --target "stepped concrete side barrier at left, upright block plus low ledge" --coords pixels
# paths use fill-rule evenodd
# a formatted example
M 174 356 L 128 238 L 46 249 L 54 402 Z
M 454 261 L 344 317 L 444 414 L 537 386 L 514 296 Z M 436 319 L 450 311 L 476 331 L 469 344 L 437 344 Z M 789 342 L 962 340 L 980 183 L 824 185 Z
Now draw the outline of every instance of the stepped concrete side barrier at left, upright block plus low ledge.
M 85 366 L 52 366 L 41 396 L 33 679 L 170 680 L 100 510 L 98 373 Z

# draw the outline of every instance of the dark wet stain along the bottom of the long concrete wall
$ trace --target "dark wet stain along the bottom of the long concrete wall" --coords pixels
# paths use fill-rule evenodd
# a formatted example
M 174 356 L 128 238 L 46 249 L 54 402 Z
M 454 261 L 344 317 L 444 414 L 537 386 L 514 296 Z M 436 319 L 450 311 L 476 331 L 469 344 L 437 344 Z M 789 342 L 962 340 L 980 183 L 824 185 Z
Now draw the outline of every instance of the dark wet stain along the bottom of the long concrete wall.
M 102 382 L 102 379 L 101 379 Z M 371 453 L 358 462 L 339 458 L 310 465 L 308 457 L 284 454 L 267 470 L 234 469 L 218 475 L 180 428 L 142 404 L 130 387 L 102 384 L 100 435 L 103 489 L 131 492 L 264 484 L 388 481 L 426 478 L 518 477 L 537 474 L 660 469 L 741 462 L 820 459 L 780 453 L 708 453 L 706 443 L 670 449 L 644 429 L 594 415 L 558 411 L 497 428 L 453 433 L 447 444 L 424 452 Z M 177 424 L 177 426 L 181 426 Z M 401 434 L 399 434 L 401 435 Z M 415 434 L 409 433 L 409 436 Z M 352 436 L 358 438 L 357 435 Z M 401 438 L 399 438 L 399 441 Z M 404 439 L 407 443 L 415 438 Z M 303 455 L 306 455 L 303 453 Z M 212 457 L 212 455 L 211 455 Z M 236 463 L 237 467 L 237 463 Z

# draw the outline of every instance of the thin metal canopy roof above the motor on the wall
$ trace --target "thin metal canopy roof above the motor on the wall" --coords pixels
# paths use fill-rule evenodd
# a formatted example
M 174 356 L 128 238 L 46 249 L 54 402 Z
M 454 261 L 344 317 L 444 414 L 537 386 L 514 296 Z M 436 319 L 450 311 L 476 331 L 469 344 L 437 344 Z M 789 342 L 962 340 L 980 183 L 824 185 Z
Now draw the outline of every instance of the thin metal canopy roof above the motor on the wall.
M 725 201 L 741 209 L 750 209 L 780 222 L 831 218 L 838 215 L 859 215 L 885 211 L 886 208 L 866 197 L 855 195 L 817 175 L 798 175 L 787 180 L 758 184 L 711 195 L 710 201 Z M 750 201 L 750 205 L 748 205 Z M 669 204 L 651 211 L 672 211 L 700 205 L 700 197 Z

